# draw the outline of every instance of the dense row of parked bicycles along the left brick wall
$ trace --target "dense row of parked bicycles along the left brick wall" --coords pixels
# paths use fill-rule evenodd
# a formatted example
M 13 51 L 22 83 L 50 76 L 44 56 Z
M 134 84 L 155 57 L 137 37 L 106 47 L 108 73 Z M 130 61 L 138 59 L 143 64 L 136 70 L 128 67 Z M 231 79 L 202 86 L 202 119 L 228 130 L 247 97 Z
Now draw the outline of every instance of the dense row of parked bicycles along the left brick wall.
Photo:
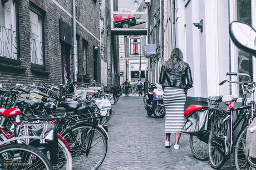
M 118 97 L 96 84 L 0 89 L 1 169 L 99 168 Z

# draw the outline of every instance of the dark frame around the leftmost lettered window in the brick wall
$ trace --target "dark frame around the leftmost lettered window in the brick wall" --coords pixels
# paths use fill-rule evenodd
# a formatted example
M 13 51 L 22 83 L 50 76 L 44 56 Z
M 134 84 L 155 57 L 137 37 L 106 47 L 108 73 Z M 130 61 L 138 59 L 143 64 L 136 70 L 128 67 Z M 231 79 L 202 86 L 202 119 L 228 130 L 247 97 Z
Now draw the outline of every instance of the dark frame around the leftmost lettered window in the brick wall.
M 16 59 L 11 59 L 11 58 L 7 58 L 4 56 L 0 56 L 0 65 L 1 66 L 8 66 L 8 65 L 13 65 L 16 66 L 14 68 L 19 68 L 20 64 L 21 64 L 21 53 L 20 53 L 20 46 L 19 46 L 19 11 L 18 11 L 18 1 L 13 0 L 13 2 L 15 3 L 15 21 L 16 21 L 16 39 L 17 39 L 17 60 Z M 12 2 L 12 3 L 13 3 Z M 2 5 L 2 4 L 0 4 Z M 17 67 L 18 66 L 18 67 Z

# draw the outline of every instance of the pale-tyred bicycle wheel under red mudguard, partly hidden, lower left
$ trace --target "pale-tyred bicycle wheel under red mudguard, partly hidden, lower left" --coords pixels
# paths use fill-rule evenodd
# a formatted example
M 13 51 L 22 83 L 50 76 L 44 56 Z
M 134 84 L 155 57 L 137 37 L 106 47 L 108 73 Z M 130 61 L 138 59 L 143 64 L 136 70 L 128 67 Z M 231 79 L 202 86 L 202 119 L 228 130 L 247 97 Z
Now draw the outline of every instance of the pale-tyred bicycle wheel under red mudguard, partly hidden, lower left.
M 65 143 L 58 138 L 58 164 L 54 169 L 72 169 L 72 156 Z

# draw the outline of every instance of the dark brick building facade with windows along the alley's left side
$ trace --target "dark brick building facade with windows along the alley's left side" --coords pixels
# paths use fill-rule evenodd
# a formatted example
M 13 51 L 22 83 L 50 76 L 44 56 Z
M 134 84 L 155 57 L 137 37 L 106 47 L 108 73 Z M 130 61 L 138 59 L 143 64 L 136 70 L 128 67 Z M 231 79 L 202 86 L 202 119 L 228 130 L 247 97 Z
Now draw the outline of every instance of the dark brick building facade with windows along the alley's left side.
M 72 1 L 8 0 L 0 4 L 2 84 L 102 81 L 100 1 L 76 0 L 74 60 Z M 104 16 L 107 18 L 107 15 Z M 109 42 L 111 38 L 109 39 Z M 104 43 L 107 43 L 104 42 Z M 111 42 L 110 42 L 111 43 Z M 75 64 L 74 64 L 75 61 Z M 106 65 L 103 63 L 102 65 Z M 107 72 L 107 67 L 104 67 Z M 0 82 L 1 83 L 1 82 Z

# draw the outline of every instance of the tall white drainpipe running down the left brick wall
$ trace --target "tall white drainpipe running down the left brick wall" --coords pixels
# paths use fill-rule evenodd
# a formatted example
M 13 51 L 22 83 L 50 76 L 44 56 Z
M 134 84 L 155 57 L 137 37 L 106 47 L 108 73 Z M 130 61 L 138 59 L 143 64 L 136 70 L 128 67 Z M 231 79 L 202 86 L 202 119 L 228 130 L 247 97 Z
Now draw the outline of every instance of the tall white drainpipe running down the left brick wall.
M 73 58 L 74 58 L 74 81 L 77 81 L 77 44 L 76 44 L 76 0 L 73 0 Z

